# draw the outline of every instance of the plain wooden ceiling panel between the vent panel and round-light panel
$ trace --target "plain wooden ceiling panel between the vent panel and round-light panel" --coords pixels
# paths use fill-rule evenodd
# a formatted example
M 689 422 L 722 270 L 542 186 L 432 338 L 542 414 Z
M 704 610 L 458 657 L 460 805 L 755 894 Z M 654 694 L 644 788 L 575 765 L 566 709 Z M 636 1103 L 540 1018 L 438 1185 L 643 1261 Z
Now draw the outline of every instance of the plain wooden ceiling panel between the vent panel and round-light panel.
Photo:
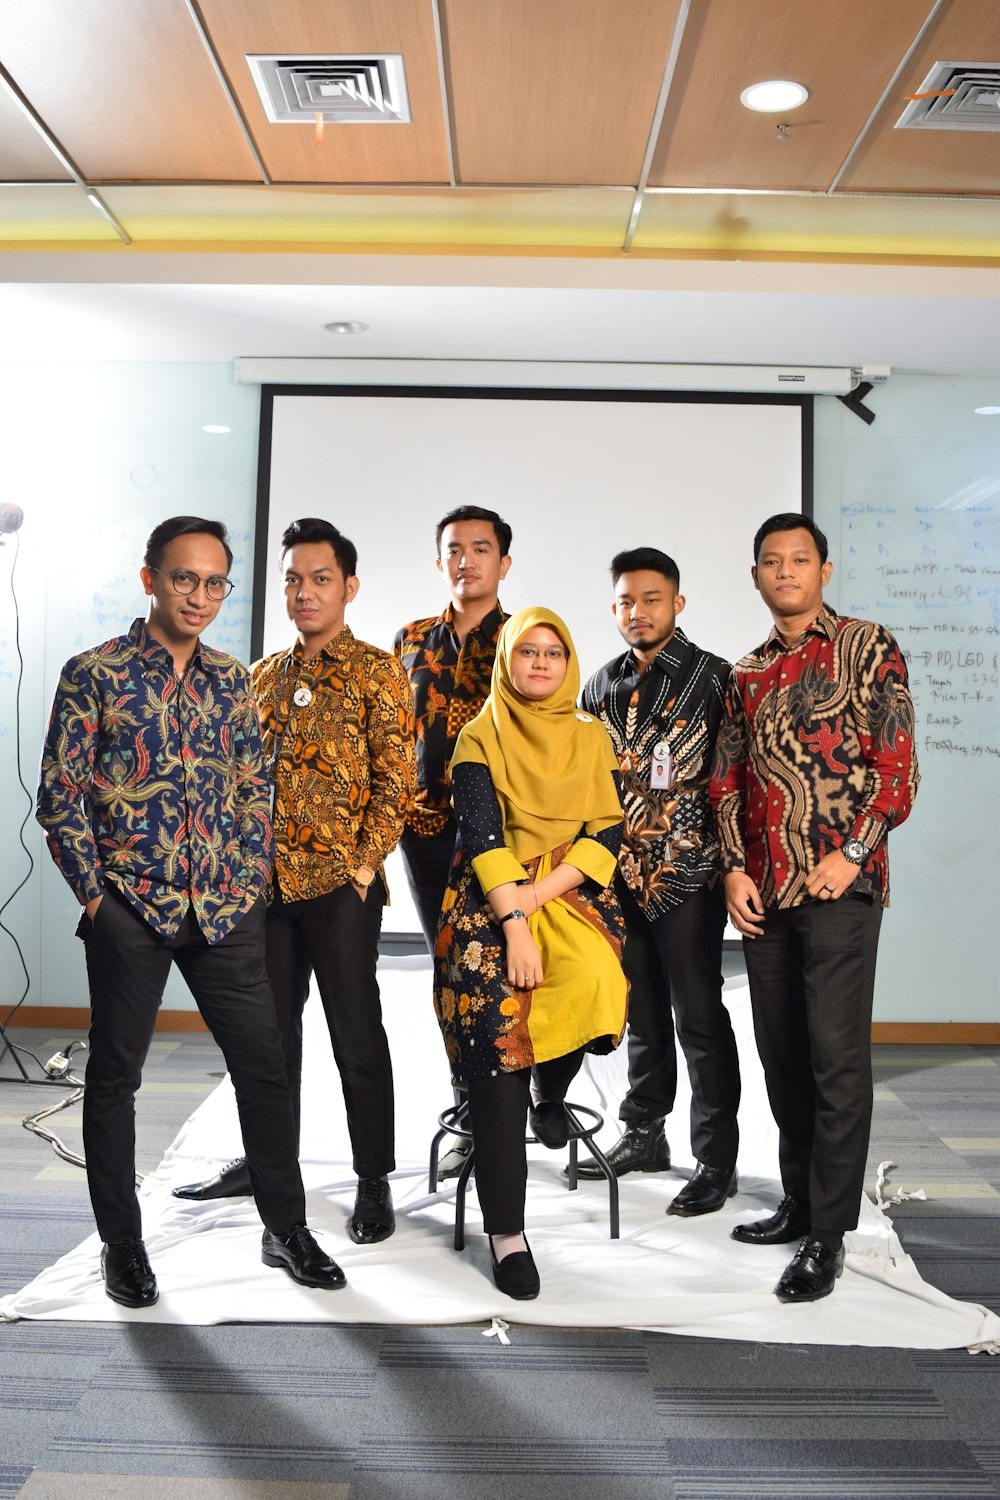
M 678 0 L 442 0 L 463 183 L 636 183 Z

